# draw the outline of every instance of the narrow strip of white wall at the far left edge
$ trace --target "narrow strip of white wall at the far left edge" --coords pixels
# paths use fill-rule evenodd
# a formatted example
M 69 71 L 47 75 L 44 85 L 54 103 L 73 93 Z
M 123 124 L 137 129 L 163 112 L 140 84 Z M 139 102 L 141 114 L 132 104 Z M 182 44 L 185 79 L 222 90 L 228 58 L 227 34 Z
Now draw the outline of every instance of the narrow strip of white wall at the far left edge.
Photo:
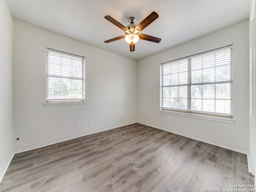
M 12 16 L 0 0 L 0 181 L 12 153 Z

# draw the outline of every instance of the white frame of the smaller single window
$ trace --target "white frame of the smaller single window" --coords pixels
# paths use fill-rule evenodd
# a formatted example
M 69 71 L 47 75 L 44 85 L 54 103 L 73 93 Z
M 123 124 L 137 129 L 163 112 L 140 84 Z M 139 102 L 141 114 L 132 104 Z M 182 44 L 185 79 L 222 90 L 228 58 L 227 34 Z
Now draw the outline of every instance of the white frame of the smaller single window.
M 73 59 L 75 60 L 81 60 L 81 62 L 79 62 L 79 64 L 81 65 L 81 78 L 79 77 L 74 77 L 73 73 L 71 74 L 71 76 L 65 76 L 62 75 L 62 66 L 63 63 L 62 61 L 58 62 L 57 65 L 60 66 L 60 75 L 56 75 L 56 74 L 49 74 L 49 68 L 51 67 L 50 63 L 49 63 L 49 59 L 50 59 L 50 52 L 52 52 L 53 54 L 60 54 L 60 58 L 62 57 L 68 57 L 70 58 L 70 60 L 68 59 L 68 67 L 70 67 L 73 71 L 74 66 L 73 66 Z M 79 105 L 79 104 L 85 104 L 85 57 L 84 56 L 78 56 L 75 54 L 70 54 L 67 52 L 62 52 L 59 50 L 54 50 L 51 48 L 46 48 L 46 100 L 44 103 L 44 106 L 62 106 L 62 105 Z M 79 98 L 49 98 L 49 78 L 65 78 L 65 79 L 70 79 L 70 80 L 81 80 L 82 81 L 82 96 Z

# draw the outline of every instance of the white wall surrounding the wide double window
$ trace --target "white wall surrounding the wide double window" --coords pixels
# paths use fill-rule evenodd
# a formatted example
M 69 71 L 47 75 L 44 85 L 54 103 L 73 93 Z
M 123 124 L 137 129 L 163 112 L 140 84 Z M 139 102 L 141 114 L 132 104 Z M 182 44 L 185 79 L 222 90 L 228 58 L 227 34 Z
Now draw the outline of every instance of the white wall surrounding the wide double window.
M 159 112 L 161 63 L 230 44 L 233 44 L 234 51 L 234 124 Z M 139 122 L 248 153 L 250 146 L 248 20 L 139 60 L 137 75 Z M 183 127 L 184 122 L 187 123 L 187 128 Z

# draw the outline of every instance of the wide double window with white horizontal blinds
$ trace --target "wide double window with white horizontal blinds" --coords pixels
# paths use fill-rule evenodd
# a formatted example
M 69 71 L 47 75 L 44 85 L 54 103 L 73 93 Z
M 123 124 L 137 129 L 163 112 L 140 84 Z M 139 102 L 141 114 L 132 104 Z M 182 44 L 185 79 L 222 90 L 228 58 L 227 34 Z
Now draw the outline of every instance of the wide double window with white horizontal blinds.
M 233 118 L 232 62 L 226 46 L 161 64 L 160 110 Z

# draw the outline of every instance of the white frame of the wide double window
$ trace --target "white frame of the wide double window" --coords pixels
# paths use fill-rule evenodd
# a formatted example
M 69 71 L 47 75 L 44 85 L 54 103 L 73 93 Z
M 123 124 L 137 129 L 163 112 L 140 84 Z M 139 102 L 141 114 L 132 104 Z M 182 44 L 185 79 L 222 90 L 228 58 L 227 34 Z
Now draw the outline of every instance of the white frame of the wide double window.
M 227 81 L 227 80 L 223 80 L 223 81 L 216 81 L 216 63 L 214 61 L 214 82 L 206 82 L 204 83 L 203 81 L 200 82 L 200 83 L 192 83 L 192 67 L 191 67 L 191 59 L 192 58 L 196 58 L 196 57 L 199 57 L 199 56 L 204 56 L 206 54 L 210 54 L 210 53 L 215 53 L 217 51 L 220 51 L 220 50 L 226 50 L 226 49 L 230 49 L 230 80 Z M 171 82 L 170 82 L 170 85 L 166 86 L 164 85 L 164 79 L 163 79 L 163 76 L 164 76 L 164 72 L 163 72 L 163 66 L 164 65 L 168 65 L 168 64 L 174 64 L 176 62 L 179 62 L 179 61 L 183 61 L 183 60 L 187 60 L 187 65 L 188 65 L 188 74 L 187 74 L 187 84 L 175 84 L 175 85 L 171 85 Z M 203 64 L 202 64 L 202 69 L 203 69 Z M 180 74 L 180 72 L 179 72 Z M 171 71 L 170 71 L 170 76 L 171 76 Z M 192 110 L 192 94 L 191 94 L 191 86 L 193 85 L 206 85 L 206 84 L 214 84 L 214 86 L 216 86 L 216 84 L 223 84 L 223 83 L 229 83 L 230 84 L 230 114 L 226 114 L 226 113 L 217 113 L 217 112 L 198 112 L 196 110 Z M 180 87 L 180 86 L 186 86 L 187 87 L 187 109 L 181 109 L 181 108 L 168 108 L 168 107 L 165 107 L 163 106 L 163 88 L 164 87 Z M 214 92 L 214 107 L 216 107 L 216 88 L 215 89 L 215 92 Z M 170 99 L 171 99 L 171 96 L 170 96 Z M 203 97 L 202 97 L 203 99 Z M 202 107 L 203 107 L 203 104 L 202 104 Z M 216 111 L 216 110 L 215 110 Z M 191 55 L 191 56 L 187 56 L 187 57 L 184 57 L 184 58 L 180 58 L 180 59 L 176 59 L 176 60 L 172 60 L 172 61 L 169 61 L 169 62 L 164 62 L 162 64 L 160 64 L 160 112 L 162 113 L 172 113 L 172 114 L 175 114 L 175 115 L 181 115 L 181 116 L 191 116 L 193 115 L 194 117 L 198 118 L 198 117 L 206 117 L 206 118 L 218 118 L 218 119 L 231 119 L 231 122 L 234 122 L 232 119 L 233 119 L 233 45 L 229 45 L 229 46 L 224 46 L 224 47 L 221 47 L 221 48 L 217 48 L 217 49 L 214 49 L 214 50 L 210 50 L 210 51 L 206 51 L 206 52 L 202 52 L 202 53 L 199 53 L 199 54 L 194 54 L 194 55 Z

